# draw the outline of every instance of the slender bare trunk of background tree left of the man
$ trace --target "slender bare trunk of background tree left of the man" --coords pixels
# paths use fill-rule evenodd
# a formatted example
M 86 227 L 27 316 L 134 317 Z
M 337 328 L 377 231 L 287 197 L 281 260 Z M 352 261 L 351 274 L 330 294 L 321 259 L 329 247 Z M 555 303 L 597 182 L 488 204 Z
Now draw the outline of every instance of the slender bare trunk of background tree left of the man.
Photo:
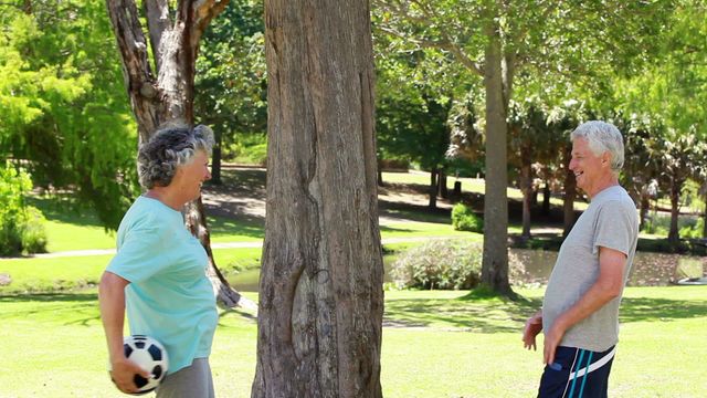
M 486 91 L 486 178 L 484 196 L 484 254 L 482 283 L 495 292 L 513 294 L 508 283 L 508 170 L 506 106 L 502 77 L 498 21 L 490 15 L 484 27 Z

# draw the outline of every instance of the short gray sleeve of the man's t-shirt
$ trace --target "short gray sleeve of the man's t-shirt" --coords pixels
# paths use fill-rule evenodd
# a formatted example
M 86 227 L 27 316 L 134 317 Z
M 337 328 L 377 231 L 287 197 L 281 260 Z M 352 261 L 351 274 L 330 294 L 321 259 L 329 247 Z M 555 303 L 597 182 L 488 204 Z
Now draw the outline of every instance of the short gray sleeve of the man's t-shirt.
M 594 254 L 600 247 L 604 247 L 629 255 L 635 240 L 634 214 L 631 211 L 619 201 L 609 201 L 601 207 L 594 228 Z

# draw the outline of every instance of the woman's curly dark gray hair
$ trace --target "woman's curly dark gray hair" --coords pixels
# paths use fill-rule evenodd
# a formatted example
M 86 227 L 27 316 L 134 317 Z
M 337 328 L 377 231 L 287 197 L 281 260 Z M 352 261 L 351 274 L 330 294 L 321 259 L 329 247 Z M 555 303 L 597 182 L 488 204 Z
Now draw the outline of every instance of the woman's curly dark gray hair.
M 197 150 L 211 154 L 213 144 L 213 132 L 203 125 L 158 129 L 138 151 L 140 186 L 145 189 L 167 187 L 172 181 L 177 167 L 189 164 Z

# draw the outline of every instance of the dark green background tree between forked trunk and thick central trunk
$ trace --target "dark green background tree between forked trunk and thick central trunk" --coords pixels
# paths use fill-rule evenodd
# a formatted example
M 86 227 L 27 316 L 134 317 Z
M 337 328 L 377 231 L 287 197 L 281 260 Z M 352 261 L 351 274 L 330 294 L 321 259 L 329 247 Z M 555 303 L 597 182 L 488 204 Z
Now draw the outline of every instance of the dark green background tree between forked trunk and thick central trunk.
M 234 0 L 203 34 L 194 76 L 194 115 L 213 126 L 211 181 L 221 181 L 222 148 L 238 134 L 265 135 L 263 2 Z

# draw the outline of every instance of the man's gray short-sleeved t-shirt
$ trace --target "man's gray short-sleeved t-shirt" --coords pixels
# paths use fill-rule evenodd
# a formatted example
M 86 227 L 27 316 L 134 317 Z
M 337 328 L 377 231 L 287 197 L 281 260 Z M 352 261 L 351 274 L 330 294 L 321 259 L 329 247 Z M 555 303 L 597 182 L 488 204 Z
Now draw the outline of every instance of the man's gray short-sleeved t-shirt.
M 599 247 L 626 254 L 625 285 L 637 239 L 639 217 L 629 193 L 620 186 L 613 186 L 594 196 L 560 248 L 542 303 L 544 332 L 547 333 L 555 320 L 597 282 Z M 619 304 L 621 295 L 569 328 L 560 345 L 593 352 L 615 345 L 619 342 Z

